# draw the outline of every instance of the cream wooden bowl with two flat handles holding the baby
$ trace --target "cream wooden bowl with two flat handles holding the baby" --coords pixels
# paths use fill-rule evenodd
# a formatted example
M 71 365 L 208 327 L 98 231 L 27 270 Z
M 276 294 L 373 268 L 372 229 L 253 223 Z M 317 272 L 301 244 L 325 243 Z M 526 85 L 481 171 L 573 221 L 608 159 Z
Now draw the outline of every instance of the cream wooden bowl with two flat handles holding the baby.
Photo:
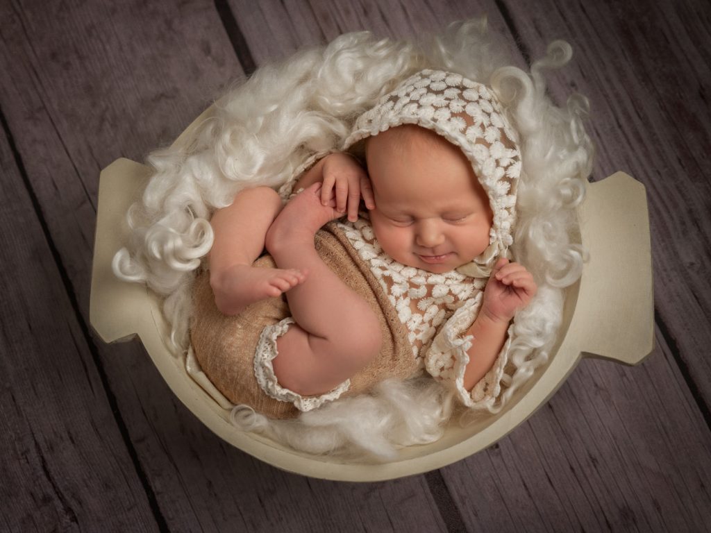
M 198 117 L 176 140 L 211 109 Z M 183 404 L 220 438 L 240 450 L 289 472 L 314 478 L 375 481 L 441 468 L 482 450 L 512 431 L 560 387 L 582 357 L 604 357 L 635 365 L 653 350 L 652 271 L 649 222 L 643 185 L 615 173 L 588 185 L 578 210 L 583 246 L 590 260 L 582 279 L 567 290 L 560 340 L 547 365 L 539 369 L 506 408 L 486 421 L 461 428 L 451 423 L 439 441 L 400 450 L 390 463 L 343 462 L 309 456 L 232 426 L 230 411 L 186 372 L 183 357 L 164 339 L 169 331 L 159 298 L 139 284 L 116 279 L 114 254 L 125 242 L 125 215 L 150 169 L 118 159 L 101 173 L 92 271 L 90 320 L 106 343 L 138 335 L 161 375 Z

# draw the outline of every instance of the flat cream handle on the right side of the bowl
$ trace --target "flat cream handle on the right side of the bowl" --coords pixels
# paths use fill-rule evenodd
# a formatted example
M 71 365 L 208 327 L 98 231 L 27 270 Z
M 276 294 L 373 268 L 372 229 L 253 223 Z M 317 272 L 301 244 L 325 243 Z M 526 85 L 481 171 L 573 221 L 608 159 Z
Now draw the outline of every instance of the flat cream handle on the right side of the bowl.
M 584 324 L 578 330 L 582 355 L 636 365 L 654 349 L 644 185 L 624 172 L 589 183 L 578 216 L 582 244 L 589 252 L 575 313 Z

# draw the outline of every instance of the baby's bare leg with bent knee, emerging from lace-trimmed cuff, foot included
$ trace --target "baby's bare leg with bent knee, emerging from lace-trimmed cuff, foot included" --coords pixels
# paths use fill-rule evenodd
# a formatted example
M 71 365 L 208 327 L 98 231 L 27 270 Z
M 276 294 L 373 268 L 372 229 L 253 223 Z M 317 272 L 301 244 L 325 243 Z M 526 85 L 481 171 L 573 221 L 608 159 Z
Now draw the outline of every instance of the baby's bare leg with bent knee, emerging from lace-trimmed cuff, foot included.
M 277 340 L 272 364 L 282 387 L 303 395 L 328 392 L 378 355 L 380 324 L 368 303 L 338 279 L 314 248 L 314 235 L 342 213 L 321 205 L 321 184 L 304 190 L 267 233 L 267 250 L 282 268 L 306 270 L 287 293 L 296 325 Z

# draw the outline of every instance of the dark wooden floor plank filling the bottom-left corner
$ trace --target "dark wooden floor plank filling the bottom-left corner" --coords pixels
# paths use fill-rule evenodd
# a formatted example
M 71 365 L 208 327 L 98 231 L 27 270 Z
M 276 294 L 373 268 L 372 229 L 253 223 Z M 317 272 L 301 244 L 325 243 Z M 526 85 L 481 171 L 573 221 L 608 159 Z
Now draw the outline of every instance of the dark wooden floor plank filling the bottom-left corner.
M 0 529 L 155 531 L 1 122 L 0 198 L 12 201 L 0 207 Z

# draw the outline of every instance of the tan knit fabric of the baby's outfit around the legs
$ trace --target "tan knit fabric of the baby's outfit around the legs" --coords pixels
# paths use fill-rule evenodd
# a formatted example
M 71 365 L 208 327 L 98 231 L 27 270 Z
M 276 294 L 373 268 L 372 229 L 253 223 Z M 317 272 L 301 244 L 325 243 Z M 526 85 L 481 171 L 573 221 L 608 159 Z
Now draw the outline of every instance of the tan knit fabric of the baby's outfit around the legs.
M 343 282 L 360 294 L 380 320 L 383 347 L 378 357 L 351 377 L 351 387 L 343 397 L 367 391 L 388 377 L 407 379 L 417 373 L 417 362 L 407 339 L 407 330 L 395 313 L 387 294 L 378 284 L 358 252 L 334 222 L 320 230 L 316 251 Z M 274 266 L 270 256 L 255 266 Z M 262 328 L 289 315 L 286 298 L 268 298 L 247 307 L 238 316 L 225 316 L 215 307 L 209 273 L 198 275 L 193 289 L 191 342 L 203 371 L 220 392 L 235 404 L 250 405 L 272 418 L 293 418 L 299 410 L 293 404 L 267 396 L 257 384 L 254 370 L 255 346 Z

